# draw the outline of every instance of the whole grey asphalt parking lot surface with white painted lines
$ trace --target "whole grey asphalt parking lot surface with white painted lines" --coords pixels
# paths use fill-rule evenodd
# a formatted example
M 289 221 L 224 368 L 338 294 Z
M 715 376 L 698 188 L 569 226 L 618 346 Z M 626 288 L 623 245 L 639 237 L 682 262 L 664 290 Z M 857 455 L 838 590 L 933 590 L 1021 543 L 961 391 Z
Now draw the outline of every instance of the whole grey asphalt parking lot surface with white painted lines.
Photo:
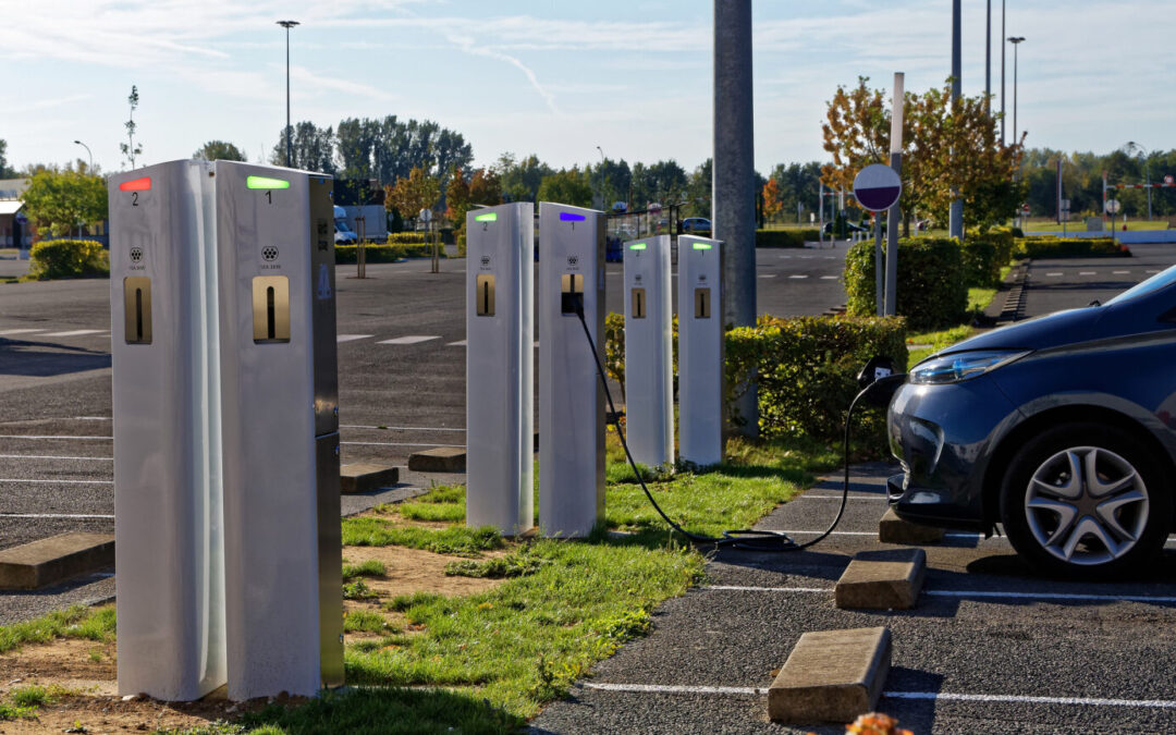
M 1036 261 L 1027 316 L 1104 300 L 1176 262 L 1176 246 L 1130 259 Z M 757 307 L 821 314 L 844 301 L 844 247 L 757 253 Z M 465 440 L 463 261 L 339 269 L 343 461 L 403 465 Z M 620 265 L 608 305 L 620 310 Z M 108 282 L 0 286 L 0 548 L 69 529 L 113 528 Z M 540 335 L 542 339 L 542 335 Z M 808 630 L 886 624 L 894 669 L 880 709 L 916 733 L 1165 731 L 1176 715 L 1172 544 L 1140 580 L 1034 576 L 1002 537 L 951 534 L 928 550 L 920 604 L 847 612 L 833 586 L 876 541 L 891 467 L 861 468 L 846 519 L 813 550 L 722 552 L 709 580 L 663 604 L 626 646 L 548 707 L 536 731 L 841 733 L 767 721 L 770 671 Z M 823 529 L 840 482 L 826 479 L 761 527 L 799 540 Z M 36 595 L 0 595 L 0 623 L 113 594 L 108 575 Z

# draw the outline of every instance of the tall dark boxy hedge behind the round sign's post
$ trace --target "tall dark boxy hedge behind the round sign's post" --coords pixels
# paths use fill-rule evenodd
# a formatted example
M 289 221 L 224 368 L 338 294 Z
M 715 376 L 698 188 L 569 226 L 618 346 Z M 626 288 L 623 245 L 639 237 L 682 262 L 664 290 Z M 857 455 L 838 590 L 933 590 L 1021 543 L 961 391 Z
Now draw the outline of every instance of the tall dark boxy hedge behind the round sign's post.
M 847 312 L 875 314 L 874 243 L 858 242 L 846 254 Z M 898 240 L 897 312 L 916 332 L 954 327 L 964 319 L 968 285 L 960 241 L 955 238 Z

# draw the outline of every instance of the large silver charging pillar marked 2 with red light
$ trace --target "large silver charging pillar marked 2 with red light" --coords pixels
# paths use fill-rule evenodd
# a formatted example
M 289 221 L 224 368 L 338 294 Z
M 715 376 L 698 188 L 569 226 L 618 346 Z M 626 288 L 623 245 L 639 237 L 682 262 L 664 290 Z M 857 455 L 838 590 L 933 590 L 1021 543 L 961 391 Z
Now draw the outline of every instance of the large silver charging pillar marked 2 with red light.
M 111 176 L 119 693 L 225 683 L 211 165 Z

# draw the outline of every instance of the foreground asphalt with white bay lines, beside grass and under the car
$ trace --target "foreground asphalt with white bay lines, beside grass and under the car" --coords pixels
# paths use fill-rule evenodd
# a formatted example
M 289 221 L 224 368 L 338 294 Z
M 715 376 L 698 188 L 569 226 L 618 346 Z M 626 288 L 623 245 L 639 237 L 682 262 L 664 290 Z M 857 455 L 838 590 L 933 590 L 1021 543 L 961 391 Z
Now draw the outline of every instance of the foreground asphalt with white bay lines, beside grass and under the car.
M 878 709 L 916 733 L 1167 729 L 1174 550 L 1138 580 L 1091 584 L 1036 576 L 1002 537 L 949 534 L 927 547 L 915 609 L 837 609 L 853 555 L 896 548 L 877 542 L 893 472 L 862 468 L 840 533 L 810 550 L 720 552 L 703 586 L 662 606 L 650 636 L 596 667 L 535 730 L 841 733 L 768 722 L 767 688 L 803 633 L 874 626 L 894 642 Z M 824 479 L 759 527 L 811 537 L 835 515 L 840 485 Z

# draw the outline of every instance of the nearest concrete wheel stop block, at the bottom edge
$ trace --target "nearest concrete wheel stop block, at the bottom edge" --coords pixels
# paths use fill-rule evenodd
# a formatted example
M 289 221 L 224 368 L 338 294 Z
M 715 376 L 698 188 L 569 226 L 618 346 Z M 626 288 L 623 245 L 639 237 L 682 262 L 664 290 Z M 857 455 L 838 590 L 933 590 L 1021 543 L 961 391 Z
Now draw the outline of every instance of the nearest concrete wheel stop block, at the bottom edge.
M 855 628 L 806 633 L 768 688 L 775 722 L 853 722 L 871 711 L 890 671 L 890 632 Z

